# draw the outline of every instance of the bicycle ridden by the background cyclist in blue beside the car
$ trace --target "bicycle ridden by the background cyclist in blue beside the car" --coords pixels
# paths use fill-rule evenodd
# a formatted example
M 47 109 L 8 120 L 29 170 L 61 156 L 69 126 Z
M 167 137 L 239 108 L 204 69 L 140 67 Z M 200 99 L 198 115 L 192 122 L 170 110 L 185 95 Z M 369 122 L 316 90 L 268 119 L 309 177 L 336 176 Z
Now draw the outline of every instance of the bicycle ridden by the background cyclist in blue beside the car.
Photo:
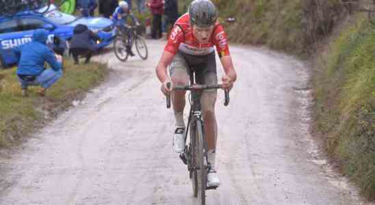
M 117 27 L 116 38 L 114 39 L 114 54 L 120 61 L 126 61 L 129 57 L 126 46 L 129 45 L 131 48 L 135 44 L 135 49 L 141 59 L 147 59 L 148 50 L 146 42 L 144 42 L 142 36 L 137 34 L 136 26 L 125 25 L 129 30 L 128 33 L 123 33 L 120 27 Z

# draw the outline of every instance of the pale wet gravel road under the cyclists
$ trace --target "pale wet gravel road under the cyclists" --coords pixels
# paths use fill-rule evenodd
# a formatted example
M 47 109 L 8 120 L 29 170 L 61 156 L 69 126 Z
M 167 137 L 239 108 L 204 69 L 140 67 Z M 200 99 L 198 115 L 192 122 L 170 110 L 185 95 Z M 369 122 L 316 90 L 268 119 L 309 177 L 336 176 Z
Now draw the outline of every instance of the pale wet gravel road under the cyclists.
M 148 40 L 146 61 L 96 57 L 109 80 L 0 157 L 0 204 L 198 204 L 155 77 L 164 43 Z M 222 92 L 216 103 L 222 186 L 207 204 L 365 204 L 309 134 L 308 68 L 266 49 L 231 53 L 238 81 L 229 107 Z

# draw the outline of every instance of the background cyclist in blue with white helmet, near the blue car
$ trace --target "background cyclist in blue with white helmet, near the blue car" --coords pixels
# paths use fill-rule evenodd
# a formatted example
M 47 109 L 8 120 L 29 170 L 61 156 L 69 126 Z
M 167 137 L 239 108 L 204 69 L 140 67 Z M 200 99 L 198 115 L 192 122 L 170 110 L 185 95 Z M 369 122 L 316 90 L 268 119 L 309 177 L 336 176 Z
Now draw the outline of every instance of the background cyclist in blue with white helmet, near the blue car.
M 133 14 L 131 13 L 128 3 L 126 1 L 118 2 L 118 7 L 116 8 L 116 10 L 114 10 L 112 20 L 114 21 L 114 24 L 120 28 L 121 32 L 126 33 L 128 39 L 131 39 L 131 32 L 129 31 L 127 25 L 128 16 L 130 16 L 132 22 L 135 23 L 135 25 L 140 25 L 140 23 L 138 23 L 137 18 L 135 18 L 135 16 L 133 16 Z M 133 51 L 131 51 L 130 40 L 128 40 L 127 42 L 126 49 L 127 53 L 129 53 L 130 56 L 134 56 Z

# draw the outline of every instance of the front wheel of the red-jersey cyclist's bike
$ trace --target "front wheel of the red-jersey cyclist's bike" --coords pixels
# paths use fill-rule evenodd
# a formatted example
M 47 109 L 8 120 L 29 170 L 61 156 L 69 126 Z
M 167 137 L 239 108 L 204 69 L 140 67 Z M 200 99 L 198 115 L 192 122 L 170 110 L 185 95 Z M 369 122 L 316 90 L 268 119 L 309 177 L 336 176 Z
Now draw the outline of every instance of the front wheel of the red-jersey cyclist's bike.
M 206 204 L 207 188 L 207 160 L 205 159 L 205 137 L 203 136 L 203 125 L 200 120 L 196 121 L 196 139 L 197 139 L 197 161 L 198 161 L 198 200 L 201 205 Z

